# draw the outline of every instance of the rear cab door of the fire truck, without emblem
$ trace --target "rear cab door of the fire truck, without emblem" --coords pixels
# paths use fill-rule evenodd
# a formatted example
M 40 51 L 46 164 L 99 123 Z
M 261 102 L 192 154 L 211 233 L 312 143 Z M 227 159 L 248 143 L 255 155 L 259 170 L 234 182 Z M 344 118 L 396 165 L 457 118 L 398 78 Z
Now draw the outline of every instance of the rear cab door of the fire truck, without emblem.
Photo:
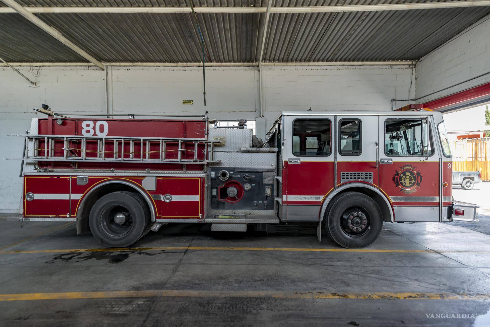
M 322 200 L 334 187 L 334 117 L 286 116 L 282 204 L 288 221 L 318 221 Z

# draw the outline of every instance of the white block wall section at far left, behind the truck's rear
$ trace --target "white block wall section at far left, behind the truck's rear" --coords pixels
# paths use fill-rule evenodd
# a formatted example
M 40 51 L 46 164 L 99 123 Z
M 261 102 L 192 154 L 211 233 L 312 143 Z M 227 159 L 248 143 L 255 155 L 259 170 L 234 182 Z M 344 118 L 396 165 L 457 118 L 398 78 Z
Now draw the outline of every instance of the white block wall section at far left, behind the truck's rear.
M 66 113 L 105 112 L 104 72 L 95 68 L 19 68 L 39 82 L 32 88 L 10 68 L 0 69 L 0 212 L 17 212 L 22 192 L 20 162 L 5 160 L 22 156 L 23 139 L 7 134 L 24 134 L 30 129 L 32 108 L 47 103 Z M 45 115 L 39 115 L 45 116 Z

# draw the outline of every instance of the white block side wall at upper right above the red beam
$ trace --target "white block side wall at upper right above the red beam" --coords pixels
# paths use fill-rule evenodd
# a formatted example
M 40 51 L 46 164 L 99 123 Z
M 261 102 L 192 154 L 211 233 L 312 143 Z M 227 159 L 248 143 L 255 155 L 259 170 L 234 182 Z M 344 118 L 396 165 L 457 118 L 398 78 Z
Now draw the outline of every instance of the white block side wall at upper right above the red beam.
M 473 24 L 416 66 L 417 98 L 490 72 L 490 16 Z M 490 81 L 490 74 L 424 97 L 424 102 Z

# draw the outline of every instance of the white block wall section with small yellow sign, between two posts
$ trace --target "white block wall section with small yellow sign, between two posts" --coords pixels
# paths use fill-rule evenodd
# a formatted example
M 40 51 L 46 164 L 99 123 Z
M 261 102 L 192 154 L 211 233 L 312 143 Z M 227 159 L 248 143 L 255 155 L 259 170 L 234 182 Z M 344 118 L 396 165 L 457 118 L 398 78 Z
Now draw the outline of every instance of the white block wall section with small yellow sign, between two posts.
M 202 68 L 134 67 L 112 69 L 114 113 L 202 114 L 234 120 L 256 117 L 255 70 L 206 68 L 206 106 Z M 258 96 L 258 94 L 257 94 Z M 194 100 L 184 105 L 182 100 Z

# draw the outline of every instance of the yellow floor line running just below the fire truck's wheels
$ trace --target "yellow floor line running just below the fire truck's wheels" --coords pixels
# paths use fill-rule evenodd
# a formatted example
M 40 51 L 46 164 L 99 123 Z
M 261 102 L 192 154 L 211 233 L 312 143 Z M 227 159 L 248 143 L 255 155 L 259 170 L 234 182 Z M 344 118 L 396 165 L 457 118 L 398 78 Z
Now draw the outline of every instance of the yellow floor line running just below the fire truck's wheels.
M 105 248 L 105 249 L 53 249 L 53 250 L 11 250 L 0 254 L 27 253 L 70 253 L 70 252 L 119 252 L 119 251 L 172 251 L 172 250 L 210 250 L 210 251 L 292 251 L 292 252 L 365 252 L 365 253 L 464 253 L 490 254 L 490 251 L 433 251 L 433 250 L 390 250 L 390 249 L 322 249 L 322 248 L 255 248 L 255 247 L 214 247 L 214 246 L 176 246 L 148 248 Z

